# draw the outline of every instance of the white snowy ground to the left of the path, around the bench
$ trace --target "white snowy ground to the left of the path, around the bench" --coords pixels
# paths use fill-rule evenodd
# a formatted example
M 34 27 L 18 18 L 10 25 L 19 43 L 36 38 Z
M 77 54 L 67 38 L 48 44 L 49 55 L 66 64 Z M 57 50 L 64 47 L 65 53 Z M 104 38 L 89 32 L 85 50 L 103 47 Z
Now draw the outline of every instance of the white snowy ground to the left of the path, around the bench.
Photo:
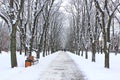
M 9 52 L 2 52 L 0 54 L 0 80 L 39 80 L 40 74 L 45 71 L 59 52 L 42 57 L 38 64 L 27 68 L 24 67 L 26 59 L 24 54 L 17 53 L 18 67 L 11 68 Z

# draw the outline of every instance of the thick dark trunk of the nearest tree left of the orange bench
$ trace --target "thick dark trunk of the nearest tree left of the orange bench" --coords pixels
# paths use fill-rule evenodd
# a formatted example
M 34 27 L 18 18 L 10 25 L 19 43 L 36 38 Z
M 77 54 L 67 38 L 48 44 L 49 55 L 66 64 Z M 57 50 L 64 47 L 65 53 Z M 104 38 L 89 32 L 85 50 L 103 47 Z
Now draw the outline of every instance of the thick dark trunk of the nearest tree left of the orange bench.
M 14 0 L 10 0 L 10 8 L 13 9 L 13 3 Z M 16 58 L 16 32 L 17 32 L 17 23 L 13 24 L 15 15 L 14 12 L 11 11 L 11 15 L 9 15 L 11 19 L 11 24 L 12 24 L 12 32 L 11 32 L 11 43 L 10 43 L 10 51 L 11 51 L 11 67 L 16 67 L 17 66 L 17 58 Z

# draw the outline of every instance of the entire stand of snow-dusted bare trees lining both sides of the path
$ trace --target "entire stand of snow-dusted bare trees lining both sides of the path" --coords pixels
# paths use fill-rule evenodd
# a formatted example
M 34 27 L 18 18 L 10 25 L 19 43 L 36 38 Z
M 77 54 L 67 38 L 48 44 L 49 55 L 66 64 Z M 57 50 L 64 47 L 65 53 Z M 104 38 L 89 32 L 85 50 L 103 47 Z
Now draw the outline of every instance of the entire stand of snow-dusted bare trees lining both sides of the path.
M 110 67 L 109 53 L 120 43 L 120 33 L 116 32 L 120 27 L 120 1 L 68 2 L 64 7 L 68 14 L 65 14 L 60 11 L 62 0 L 0 1 L 0 50 L 6 49 L 4 44 L 10 47 L 11 67 L 17 66 L 16 50 L 20 54 L 24 51 L 28 57 L 35 51 L 36 57 L 40 58 L 40 52 L 45 57 L 63 48 L 81 56 L 85 51 L 86 59 L 91 50 L 93 62 L 96 52 L 103 52 L 104 66 Z M 65 33 L 64 24 L 69 26 Z

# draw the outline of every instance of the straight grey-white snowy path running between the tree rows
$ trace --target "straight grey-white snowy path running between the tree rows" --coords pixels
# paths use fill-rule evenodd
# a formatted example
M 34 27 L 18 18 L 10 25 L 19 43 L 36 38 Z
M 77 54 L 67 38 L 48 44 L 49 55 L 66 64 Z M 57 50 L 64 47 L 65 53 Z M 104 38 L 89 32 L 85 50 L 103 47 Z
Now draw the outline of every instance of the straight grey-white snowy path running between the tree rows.
M 61 52 L 39 80 L 84 80 L 84 76 L 68 54 Z

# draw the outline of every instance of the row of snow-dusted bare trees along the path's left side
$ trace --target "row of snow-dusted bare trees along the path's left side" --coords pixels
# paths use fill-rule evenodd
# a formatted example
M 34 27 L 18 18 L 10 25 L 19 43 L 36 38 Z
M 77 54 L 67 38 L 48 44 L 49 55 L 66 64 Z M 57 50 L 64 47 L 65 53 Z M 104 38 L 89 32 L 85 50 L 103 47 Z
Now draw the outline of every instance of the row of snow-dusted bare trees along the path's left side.
M 0 1 L 0 17 L 9 28 L 11 67 L 17 66 L 17 49 L 28 57 L 35 51 L 37 58 L 40 52 L 45 57 L 60 49 L 61 3 L 55 0 Z

